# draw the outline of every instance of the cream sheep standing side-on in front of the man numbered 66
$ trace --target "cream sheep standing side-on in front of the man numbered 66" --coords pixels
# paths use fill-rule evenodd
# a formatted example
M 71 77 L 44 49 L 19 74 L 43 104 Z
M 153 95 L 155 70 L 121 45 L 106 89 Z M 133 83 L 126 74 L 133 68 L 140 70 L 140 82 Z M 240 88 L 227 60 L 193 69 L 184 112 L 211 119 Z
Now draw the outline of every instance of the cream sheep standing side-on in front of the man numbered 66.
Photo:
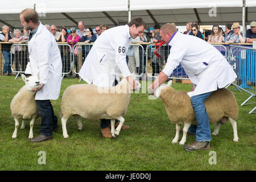
M 137 90 L 140 90 L 141 84 L 134 76 L 133 78 L 137 83 Z M 69 137 L 66 123 L 71 115 L 76 117 L 79 130 L 82 130 L 82 123 L 78 115 L 85 119 L 110 119 L 112 137 L 118 137 L 125 122 L 123 116 L 130 102 L 130 91 L 126 78 L 123 78 L 117 86 L 106 88 L 91 84 L 69 86 L 61 98 L 60 118 L 63 137 Z M 120 121 L 117 129 L 114 129 L 115 119 Z

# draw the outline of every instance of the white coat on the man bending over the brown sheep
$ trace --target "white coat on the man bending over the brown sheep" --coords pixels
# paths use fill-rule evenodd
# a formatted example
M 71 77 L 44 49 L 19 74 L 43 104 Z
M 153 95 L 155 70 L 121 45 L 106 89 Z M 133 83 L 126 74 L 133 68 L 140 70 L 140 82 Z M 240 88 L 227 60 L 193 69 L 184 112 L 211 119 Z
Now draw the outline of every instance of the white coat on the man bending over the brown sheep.
M 237 77 L 225 57 L 211 44 L 196 36 L 177 32 L 169 45 L 170 55 L 163 72 L 170 76 L 181 63 L 196 86 L 193 92 L 188 92 L 189 97 L 224 88 Z

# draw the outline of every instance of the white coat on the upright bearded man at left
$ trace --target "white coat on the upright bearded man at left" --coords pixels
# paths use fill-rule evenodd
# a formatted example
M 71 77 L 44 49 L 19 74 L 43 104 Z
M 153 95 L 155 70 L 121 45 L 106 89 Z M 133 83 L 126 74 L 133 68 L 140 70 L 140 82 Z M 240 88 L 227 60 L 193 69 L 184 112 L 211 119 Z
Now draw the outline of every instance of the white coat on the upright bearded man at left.
M 60 51 L 51 32 L 40 22 L 38 30 L 28 42 L 31 74 L 40 75 L 43 88 L 35 100 L 57 100 L 60 94 L 62 63 Z

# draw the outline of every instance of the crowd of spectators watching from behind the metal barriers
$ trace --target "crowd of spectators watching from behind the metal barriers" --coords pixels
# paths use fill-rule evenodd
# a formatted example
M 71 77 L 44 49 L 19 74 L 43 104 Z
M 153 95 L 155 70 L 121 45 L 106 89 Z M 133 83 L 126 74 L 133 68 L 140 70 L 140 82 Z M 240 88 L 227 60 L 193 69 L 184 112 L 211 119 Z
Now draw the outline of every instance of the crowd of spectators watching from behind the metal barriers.
M 174 23 L 173 23 L 174 24 Z M 174 24 L 175 25 L 175 24 Z M 79 22 L 77 27 L 71 27 L 69 30 L 66 27 L 57 28 L 54 24 L 49 26 L 49 24 L 44 25 L 49 32 L 54 36 L 56 42 L 60 43 L 68 43 L 69 46 L 73 47 L 77 42 L 82 42 L 85 44 L 93 43 L 97 40 L 98 36 L 100 36 L 104 31 L 109 29 L 109 26 L 106 24 L 102 24 L 101 26 L 86 27 L 83 22 Z M 240 24 L 238 22 L 226 23 L 225 31 L 218 25 L 213 25 L 212 30 L 210 32 L 205 31 L 202 32 L 199 30 L 199 25 L 197 23 L 188 22 L 186 25 L 187 31 L 183 32 L 183 34 L 196 36 L 197 38 L 204 39 L 209 43 L 253 43 L 256 41 L 256 22 L 250 23 L 250 28 L 246 31 L 246 34 L 243 34 L 240 30 Z M 145 30 L 142 36 L 139 36 L 132 40 L 132 43 L 141 43 L 144 51 L 146 52 L 146 45 L 143 45 L 145 42 L 152 43 L 160 43 L 161 37 L 159 35 L 160 25 L 155 24 L 154 30 L 147 32 Z M 10 42 L 10 43 L 27 43 L 29 40 L 29 32 L 26 28 L 21 32 L 18 29 L 15 29 L 14 32 L 9 31 L 8 26 L 2 27 L 2 32 L 0 33 L 0 42 Z M 88 55 L 90 48 L 92 46 L 85 45 L 82 46 L 82 60 L 85 60 L 86 55 Z M 142 47 L 139 46 L 130 46 L 127 51 L 126 61 L 129 65 L 129 69 L 131 72 L 138 73 L 141 75 L 143 72 L 140 65 L 146 64 L 146 53 L 142 53 Z M 71 61 L 64 61 L 65 55 L 70 52 L 70 48 L 61 48 L 61 58 L 63 59 L 63 72 L 68 73 L 71 68 Z M 151 53 L 154 50 L 151 50 Z M 160 49 L 160 55 L 164 55 L 164 49 Z M 27 65 L 27 55 L 28 51 L 24 46 L 14 46 L 11 49 L 11 44 L 2 44 L 2 55 L 5 59 L 5 64 L 3 65 L 3 75 L 15 75 L 11 72 L 11 54 L 14 57 L 20 57 L 19 61 L 15 59 L 15 71 L 20 70 L 20 68 L 26 68 Z M 74 49 L 73 54 L 77 56 L 77 49 Z M 142 56 L 144 57 L 142 58 Z M 159 73 L 164 64 L 164 56 L 156 57 L 154 53 L 151 55 L 151 67 L 152 67 L 152 75 Z M 142 64 L 142 60 L 144 63 Z M 14 63 L 14 61 L 12 61 Z M 67 64 L 64 66 L 64 64 Z M 75 61 L 76 68 L 78 67 L 77 61 Z M 72 73 L 68 73 L 71 75 Z

